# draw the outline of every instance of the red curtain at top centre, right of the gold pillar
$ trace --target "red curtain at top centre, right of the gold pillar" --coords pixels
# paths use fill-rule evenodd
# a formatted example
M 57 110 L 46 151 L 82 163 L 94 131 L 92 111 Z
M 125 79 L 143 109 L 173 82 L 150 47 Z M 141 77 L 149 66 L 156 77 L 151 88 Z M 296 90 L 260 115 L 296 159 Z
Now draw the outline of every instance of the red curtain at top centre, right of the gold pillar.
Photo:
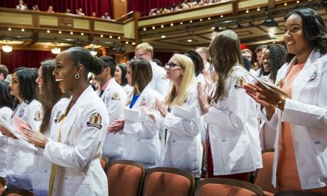
M 171 6 L 173 3 L 178 4 L 181 0 L 129 0 L 129 11 L 140 11 L 141 13 L 148 13 L 151 9 Z M 147 14 L 145 14 L 147 15 Z

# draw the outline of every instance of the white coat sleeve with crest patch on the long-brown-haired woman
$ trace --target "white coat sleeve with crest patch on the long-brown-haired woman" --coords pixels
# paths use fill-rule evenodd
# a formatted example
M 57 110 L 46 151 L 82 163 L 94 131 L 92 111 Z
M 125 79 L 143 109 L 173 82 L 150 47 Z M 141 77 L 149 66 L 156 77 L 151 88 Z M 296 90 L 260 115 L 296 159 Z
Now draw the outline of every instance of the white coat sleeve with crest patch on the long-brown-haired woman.
M 205 121 L 208 124 L 220 126 L 224 129 L 230 129 L 234 131 L 243 130 L 245 128 L 245 122 L 247 115 L 255 114 L 251 102 L 254 102 L 251 97 L 245 93 L 245 89 L 242 88 L 242 83 L 245 82 L 245 73 L 235 72 L 230 81 L 226 82 L 228 89 L 228 97 L 224 97 L 219 102 L 227 103 L 224 107 L 210 107 L 207 114 L 205 114 Z M 243 82 L 240 83 L 240 80 Z M 224 103 L 224 104 L 225 104 Z

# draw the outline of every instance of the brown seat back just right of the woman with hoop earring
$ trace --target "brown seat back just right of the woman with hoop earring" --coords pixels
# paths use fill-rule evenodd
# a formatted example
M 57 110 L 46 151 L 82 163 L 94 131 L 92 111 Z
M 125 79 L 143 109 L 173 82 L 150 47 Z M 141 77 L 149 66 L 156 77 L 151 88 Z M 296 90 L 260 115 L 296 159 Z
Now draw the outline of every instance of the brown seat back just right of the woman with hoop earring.
M 132 160 L 114 160 L 107 170 L 110 196 L 138 196 L 144 181 L 144 165 Z

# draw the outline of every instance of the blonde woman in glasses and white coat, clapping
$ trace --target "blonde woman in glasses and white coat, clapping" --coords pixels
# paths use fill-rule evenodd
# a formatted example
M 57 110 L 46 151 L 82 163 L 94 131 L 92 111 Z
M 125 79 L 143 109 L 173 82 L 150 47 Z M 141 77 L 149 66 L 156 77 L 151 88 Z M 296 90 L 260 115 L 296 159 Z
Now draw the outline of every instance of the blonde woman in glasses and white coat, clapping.
M 173 55 L 166 64 L 166 77 L 171 81 L 171 89 L 164 102 L 157 102 L 164 117 L 161 166 L 188 170 L 195 178 L 200 178 L 201 109 L 191 58 Z

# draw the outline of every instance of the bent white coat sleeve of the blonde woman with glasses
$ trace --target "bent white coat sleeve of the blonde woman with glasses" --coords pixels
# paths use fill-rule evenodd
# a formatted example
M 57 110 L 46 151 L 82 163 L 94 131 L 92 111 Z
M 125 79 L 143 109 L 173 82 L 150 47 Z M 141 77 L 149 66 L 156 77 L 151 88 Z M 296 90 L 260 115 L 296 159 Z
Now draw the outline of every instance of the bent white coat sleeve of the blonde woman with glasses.
M 168 113 L 164 119 L 164 126 L 166 129 L 173 131 L 179 136 L 195 137 L 200 132 L 201 115 L 200 104 L 198 102 L 198 93 L 196 91 L 190 93 L 188 104 L 184 104 L 183 107 L 186 107 L 186 109 L 190 110 L 194 114 L 194 118 L 187 120 L 174 114 Z

